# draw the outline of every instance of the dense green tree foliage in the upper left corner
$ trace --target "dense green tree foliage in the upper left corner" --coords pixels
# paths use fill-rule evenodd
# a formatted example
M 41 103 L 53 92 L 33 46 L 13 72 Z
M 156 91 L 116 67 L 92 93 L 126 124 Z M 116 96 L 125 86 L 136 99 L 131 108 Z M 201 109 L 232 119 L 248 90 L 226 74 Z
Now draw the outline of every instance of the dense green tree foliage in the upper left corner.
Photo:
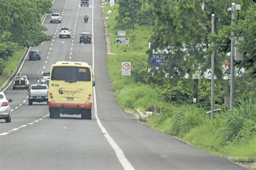
M 46 28 L 41 25 L 41 19 L 49 12 L 51 0 L 1 0 L 0 3 L 0 58 L 8 60 L 19 47 L 37 46 L 50 39 L 43 33 Z M 4 64 L 0 73 L 3 67 Z

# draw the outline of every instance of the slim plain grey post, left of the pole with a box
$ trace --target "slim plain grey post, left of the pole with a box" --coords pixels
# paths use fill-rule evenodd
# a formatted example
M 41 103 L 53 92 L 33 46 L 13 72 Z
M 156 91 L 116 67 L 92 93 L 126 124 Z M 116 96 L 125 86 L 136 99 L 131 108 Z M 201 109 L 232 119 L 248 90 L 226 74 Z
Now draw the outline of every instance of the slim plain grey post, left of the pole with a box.
M 212 14 L 212 33 L 215 33 L 215 15 Z M 212 42 L 212 46 L 214 42 Z M 214 51 L 211 56 L 211 119 L 213 119 L 213 109 L 214 109 Z

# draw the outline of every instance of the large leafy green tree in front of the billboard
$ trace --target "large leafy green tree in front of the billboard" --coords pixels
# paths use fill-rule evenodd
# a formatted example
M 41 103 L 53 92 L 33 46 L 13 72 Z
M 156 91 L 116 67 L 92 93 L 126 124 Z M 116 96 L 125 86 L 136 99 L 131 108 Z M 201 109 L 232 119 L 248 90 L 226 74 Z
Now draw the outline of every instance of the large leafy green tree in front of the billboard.
M 204 73 L 207 68 L 211 68 L 211 53 L 215 51 L 215 74 L 219 82 L 223 83 L 223 87 L 227 87 L 228 84 L 222 79 L 222 67 L 223 61 L 228 60 L 227 52 L 230 52 L 231 21 L 227 19 L 226 9 L 230 7 L 231 1 L 151 0 L 149 2 L 153 6 L 156 25 L 153 29 L 150 40 L 151 49 L 148 53 L 150 56 L 153 56 L 153 51 L 165 55 L 164 63 L 155 72 L 155 75 L 160 74 L 162 77 L 167 75 L 172 77 L 173 81 L 183 78 L 186 73 L 190 76 L 197 71 Z M 250 0 L 236 1 L 236 3 L 242 4 L 241 13 L 252 6 Z M 255 15 L 255 7 L 254 10 L 252 9 L 253 11 Z M 216 35 L 211 34 L 212 13 L 217 15 Z M 246 17 L 241 15 L 240 19 L 244 20 L 244 18 Z M 247 23 L 255 23 L 253 19 L 255 20 L 253 17 L 247 18 Z M 241 23 L 243 22 L 241 21 Z M 244 25 L 242 30 L 246 26 Z M 254 34 L 252 34 L 253 31 Z M 246 58 L 253 63 L 255 53 L 251 54 L 255 44 L 253 36 L 255 35 L 255 25 L 252 24 L 246 33 L 248 39 L 244 43 L 246 45 L 242 44 L 242 46 L 244 49 L 248 47 L 252 49 L 246 53 Z M 215 43 L 214 46 L 211 46 L 212 41 Z M 246 63 L 248 64 L 248 62 Z M 225 89 L 228 94 L 228 88 Z

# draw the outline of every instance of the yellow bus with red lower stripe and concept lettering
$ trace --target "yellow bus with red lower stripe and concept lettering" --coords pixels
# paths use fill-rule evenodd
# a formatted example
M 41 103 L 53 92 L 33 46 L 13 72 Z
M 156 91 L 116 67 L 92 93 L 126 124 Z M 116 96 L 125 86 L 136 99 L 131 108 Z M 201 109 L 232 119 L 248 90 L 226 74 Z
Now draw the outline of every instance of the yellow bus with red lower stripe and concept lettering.
M 91 119 L 93 79 L 92 67 L 86 62 L 58 61 L 53 64 L 48 93 L 50 118 L 68 114 Z

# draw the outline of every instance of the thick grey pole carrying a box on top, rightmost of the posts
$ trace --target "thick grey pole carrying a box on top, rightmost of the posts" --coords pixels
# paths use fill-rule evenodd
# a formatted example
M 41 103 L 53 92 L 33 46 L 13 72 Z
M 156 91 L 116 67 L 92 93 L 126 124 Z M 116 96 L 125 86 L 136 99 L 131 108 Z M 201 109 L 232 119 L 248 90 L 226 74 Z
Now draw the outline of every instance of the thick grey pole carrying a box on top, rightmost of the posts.
M 235 3 L 231 4 L 231 26 L 235 20 Z M 234 32 L 231 30 L 231 55 L 230 55 L 230 110 L 233 110 L 234 101 Z

